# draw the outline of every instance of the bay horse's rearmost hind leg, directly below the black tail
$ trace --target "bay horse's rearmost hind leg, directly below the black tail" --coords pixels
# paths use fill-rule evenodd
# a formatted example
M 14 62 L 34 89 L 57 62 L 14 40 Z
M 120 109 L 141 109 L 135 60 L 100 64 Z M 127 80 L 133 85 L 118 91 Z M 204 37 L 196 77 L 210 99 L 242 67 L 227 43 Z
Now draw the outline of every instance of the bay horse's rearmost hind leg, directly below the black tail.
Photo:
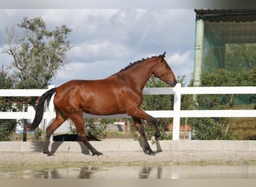
M 44 154 L 47 154 L 49 156 L 52 155 L 52 153 L 49 151 L 49 139 L 51 138 L 51 135 L 55 131 L 55 129 L 61 126 L 61 124 L 64 123 L 65 120 L 67 120 L 67 117 L 64 117 L 63 115 L 56 112 L 55 120 L 53 120 L 52 123 L 46 129 L 46 141 L 44 142 L 43 146 Z

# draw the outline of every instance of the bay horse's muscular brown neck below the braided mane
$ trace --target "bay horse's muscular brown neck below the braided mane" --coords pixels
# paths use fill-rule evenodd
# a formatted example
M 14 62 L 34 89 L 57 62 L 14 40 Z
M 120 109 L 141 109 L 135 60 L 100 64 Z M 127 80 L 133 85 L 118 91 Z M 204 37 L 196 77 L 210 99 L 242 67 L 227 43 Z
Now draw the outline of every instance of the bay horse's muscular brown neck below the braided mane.
M 138 90 L 142 91 L 153 73 L 154 65 L 155 63 L 151 59 L 145 60 L 124 70 L 121 72 L 121 76 L 129 85 L 135 86 Z

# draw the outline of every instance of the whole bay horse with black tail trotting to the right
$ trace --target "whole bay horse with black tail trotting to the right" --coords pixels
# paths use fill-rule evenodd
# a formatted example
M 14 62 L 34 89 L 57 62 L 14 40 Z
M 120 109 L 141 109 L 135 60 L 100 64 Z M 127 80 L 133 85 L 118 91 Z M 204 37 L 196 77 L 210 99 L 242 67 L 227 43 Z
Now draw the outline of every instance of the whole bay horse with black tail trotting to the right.
M 95 115 L 128 114 L 132 117 L 139 134 L 144 142 L 144 149 L 153 155 L 144 132 L 141 120 L 147 120 L 155 129 L 155 139 L 159 138 L 159 129 L 156 119 L 142 111 L 142 90 L 150 76 L 156 76 L 174 87 L 177 80 L 171 68 L 165 61 L 165 52 L 162 55 L 142 59 L 130 64 L 124 70 L 100 80 L 71 80 L 56 88 L 52 88 L 40 96 L 37 103 L 35 117 L 28 124 L 28 131 L 34 131 L 43 119 L 44 102 L 54 96 L 56 117 L 46 129 L 46 141 L 43 153 L 49 156 L 49 138 L 52 133 L 64 123 L 67 118 L 73 121 L 79 140 L 91 151 L 92 155 L 102 155 L 86 138 L 83 112 Z

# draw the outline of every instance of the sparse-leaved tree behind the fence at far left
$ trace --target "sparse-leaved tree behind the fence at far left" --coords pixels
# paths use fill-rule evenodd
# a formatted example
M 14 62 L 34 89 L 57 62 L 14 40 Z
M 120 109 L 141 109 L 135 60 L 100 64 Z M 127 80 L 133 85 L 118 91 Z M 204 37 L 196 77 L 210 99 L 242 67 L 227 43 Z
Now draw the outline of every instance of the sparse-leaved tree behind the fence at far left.
M 41 18 L 24 17 L 20 24 L 6 28 L 6 46 L 2 52 L 11 55 L 13 62 L 13 87 L 17 89 L 46 88 L 61 67 L 67 64 L 66 52 L 71 49 L 67 35 L 71 32 L 66 25 L 46 29 Z M 37 98 L 20 98 L 20 103 L 34 105 Z M 25 124 L 25 123 L 24 123 Z M 26 127 L 24 125 L 24 136 Z M 25 141 L 26 137 L 23 138 Z

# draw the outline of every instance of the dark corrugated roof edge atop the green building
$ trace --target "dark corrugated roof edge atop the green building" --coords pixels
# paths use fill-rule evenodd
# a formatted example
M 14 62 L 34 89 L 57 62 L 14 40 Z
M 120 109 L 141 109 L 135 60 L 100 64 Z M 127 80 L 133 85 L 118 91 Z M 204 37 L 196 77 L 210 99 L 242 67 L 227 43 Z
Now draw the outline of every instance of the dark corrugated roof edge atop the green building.
M 196 17 L 210 22 L 254 22 L 256 9 L 195 9 Z

